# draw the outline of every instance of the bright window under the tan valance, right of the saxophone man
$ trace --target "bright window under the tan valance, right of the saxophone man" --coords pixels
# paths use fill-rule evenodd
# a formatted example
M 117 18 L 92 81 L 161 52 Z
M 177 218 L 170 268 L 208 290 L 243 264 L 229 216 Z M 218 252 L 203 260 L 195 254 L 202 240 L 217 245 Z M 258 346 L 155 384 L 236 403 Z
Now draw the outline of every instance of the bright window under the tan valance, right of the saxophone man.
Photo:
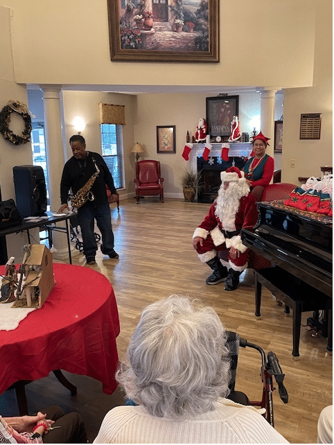
M 125 186 L 123 162 L 123 126 L 101 123 L 102 156 L 114 179 L 116 189 Z

